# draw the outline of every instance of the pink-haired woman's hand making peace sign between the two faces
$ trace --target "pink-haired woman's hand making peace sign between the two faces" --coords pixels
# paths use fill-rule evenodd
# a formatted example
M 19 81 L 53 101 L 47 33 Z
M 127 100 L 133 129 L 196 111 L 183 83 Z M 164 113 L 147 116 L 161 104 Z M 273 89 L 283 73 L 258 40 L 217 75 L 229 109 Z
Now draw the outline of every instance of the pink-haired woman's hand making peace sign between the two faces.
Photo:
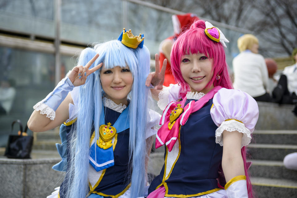
M 155 67 L 156 71 L 149 73 L 146 78 L 145 85 L 149 87 L 150 84 L 155 86 L 155 90 L 161 90 L 165 79 L 165 70 L 167 65 L 167 59 L 163 61 L 163 65 L 160 71 L 159 55 L 155 54 Z

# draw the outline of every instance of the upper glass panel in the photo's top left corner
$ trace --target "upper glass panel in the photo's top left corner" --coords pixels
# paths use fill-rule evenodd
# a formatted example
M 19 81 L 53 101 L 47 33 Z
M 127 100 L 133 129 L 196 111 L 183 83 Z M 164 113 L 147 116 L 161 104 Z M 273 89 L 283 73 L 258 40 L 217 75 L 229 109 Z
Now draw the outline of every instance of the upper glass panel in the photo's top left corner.
M 1 29 L 54 37 L 53 0 L 5 0 L 0 3 Z

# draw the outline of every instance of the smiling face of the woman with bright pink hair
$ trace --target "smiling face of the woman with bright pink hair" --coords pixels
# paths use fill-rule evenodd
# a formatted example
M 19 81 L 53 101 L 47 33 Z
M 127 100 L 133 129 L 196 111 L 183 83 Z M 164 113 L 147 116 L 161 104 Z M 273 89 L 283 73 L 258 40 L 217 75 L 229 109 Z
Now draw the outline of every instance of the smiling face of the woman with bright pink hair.
M 214 86 L 206 85 L 213 77 L 212 60 L 204 54 L 185 54 L 181 57 L 180 71 L 191 92 L 208 93 Z

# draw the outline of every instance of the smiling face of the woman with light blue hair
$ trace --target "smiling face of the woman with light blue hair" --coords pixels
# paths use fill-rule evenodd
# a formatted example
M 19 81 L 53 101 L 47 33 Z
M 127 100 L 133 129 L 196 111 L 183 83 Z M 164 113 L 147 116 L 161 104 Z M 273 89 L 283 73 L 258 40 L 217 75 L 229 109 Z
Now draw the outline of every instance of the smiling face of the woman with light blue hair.
M 128 66 L 116 66 L 111 69 L 105 69 L 103 66 L 100 71 L 100 80 L 107 98 L 116 104 L 128 104 L 127 95 L 133 84 L 133 76 Z

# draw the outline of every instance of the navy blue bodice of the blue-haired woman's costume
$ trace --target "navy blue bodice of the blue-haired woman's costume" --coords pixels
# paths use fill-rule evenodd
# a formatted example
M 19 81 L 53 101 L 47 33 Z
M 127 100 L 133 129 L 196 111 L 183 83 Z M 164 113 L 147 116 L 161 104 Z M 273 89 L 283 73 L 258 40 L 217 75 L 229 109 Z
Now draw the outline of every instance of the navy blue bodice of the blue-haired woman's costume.
M 113 124 L 116 122 L 120 114 L 121 113 L 118 113 L 114 110 L 111 110 L 105 107 L 105 124 L 110 122 L 111 126 L 113 126 Z M 92 131 L 94 131 L 94 129 L 92 129 Z M 90 135 L 92 135 L 92 133 Z M 67 136 L 67 140 L 69 140 L 68 136 Z M 114 148 L 114 166 L 111 166 L 105 169 L 105 173 L 100 183 L 98 184 L 98 186 L 94 189 L 94 191 L 101 194 L 112 195 L 117 197 L 118 194 L 120 194 L 125 189 L 127 189 L 127 186 L 131 182 L 131 177 L 130 177 L 131 171 L 129 171 L 128 167 L 129 167 L 129 129 L 126 129 L 118 133 L 117 143 Z M 67 176 L 69 176 L 68 172 L 67 172 Z M 60 192 L 59 192 L 60 198 L 63 198 L 63 195 L 67 190 L 66 183 L 67 183 L 67 177 L 65 177 L 63 183 L 60 186 Z

